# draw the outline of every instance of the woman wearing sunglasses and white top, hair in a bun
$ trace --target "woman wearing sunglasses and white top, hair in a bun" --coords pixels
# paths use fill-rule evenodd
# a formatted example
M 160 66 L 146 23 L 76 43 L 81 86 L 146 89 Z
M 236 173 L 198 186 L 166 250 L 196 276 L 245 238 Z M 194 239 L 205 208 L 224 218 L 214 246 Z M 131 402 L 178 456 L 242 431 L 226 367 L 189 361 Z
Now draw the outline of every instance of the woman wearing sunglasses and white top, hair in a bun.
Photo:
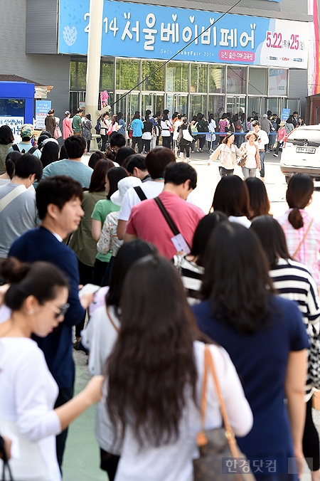
M 27 265 L 14 258 L 4 260 L 0 275 L 9 282 L 4 304 L 11 310 L 0 324 L 0 432 L 12 441 L 12 475 L 60 481 L 55 435 L 100 400 L 102 376 L 53 409 L 58 386 L 31 334 L 46 337 L 58 331 L 68 310 L 68 281 L 50 263 Z

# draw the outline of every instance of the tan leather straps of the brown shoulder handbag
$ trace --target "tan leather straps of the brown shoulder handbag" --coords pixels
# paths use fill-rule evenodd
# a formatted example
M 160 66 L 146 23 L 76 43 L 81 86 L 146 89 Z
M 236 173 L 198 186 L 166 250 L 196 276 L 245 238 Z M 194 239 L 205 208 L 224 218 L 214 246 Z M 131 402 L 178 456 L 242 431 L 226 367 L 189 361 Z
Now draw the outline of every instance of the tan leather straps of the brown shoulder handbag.
M 206 408 L 207 408 L 207 384 L 208 384 L 208 371 L 211 371 L 213 376 L 213 382 L 215 384 L 215 392 L 218 397 L 218 402 L 220 406 L 221 416 L 223 418 L 223 424 L 225 426 L 225 437 L 228 440 L 228 444 L 230 446 L 231 454 L 233 458 L 239 458 L 239 453 L 235 441 L 235 433 L 233 432 L 233 428 L 230 426 L 229 417 L 227 413 L 227 409 L 225 408 L 225 402 L 223 401 L 223 396 L 220 389 L 220 384 L 218 381 L 218 376 L 215 371 L 215 364 L 213 362 L 213 357 L 210 353 L 210 347 L 206 344 L 205 351 L 204 351 L 204 374 L 203 374 L 203 388 L 202 388 L 202 396 L 201 396 L 201 430 L 202 433 L 198 435 L 198 445 L 199 440 L 206 440 L 206 434 L 204 433 L 205 428 L 205 419 L 206 419 Z M 206 440 L 208 442 L 208 440 Z M 205 443 L 206 444 L 206 443 Z

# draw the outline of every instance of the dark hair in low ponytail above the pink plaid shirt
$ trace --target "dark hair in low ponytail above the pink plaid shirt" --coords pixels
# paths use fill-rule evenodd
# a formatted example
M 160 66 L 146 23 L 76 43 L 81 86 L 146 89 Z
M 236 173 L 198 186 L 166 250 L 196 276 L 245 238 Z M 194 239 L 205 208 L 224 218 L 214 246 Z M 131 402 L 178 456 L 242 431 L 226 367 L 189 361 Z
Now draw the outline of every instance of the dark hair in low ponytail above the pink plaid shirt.
M 288 221 L 294 229 L 299 229 L 304 226 L 304 219 L 302 218 L 300 209 L 305 208 L 314 193 L 314 181 L 307 174 L 294 174 L 289 179 L 286 199 L 289 208 L 292 211 L 289 213 Z

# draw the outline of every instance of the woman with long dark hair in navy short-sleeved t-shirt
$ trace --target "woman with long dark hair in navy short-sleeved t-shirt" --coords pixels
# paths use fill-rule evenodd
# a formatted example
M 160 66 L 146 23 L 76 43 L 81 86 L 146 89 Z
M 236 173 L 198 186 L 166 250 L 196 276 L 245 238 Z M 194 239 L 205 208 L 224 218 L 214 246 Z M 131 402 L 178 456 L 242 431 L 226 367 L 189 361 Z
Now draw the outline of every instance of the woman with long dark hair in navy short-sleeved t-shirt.
M 208 244 L 205 300 L 193 312 L 199 329 L 228 351 L 242 379 L 255 420 L 250 433 L 238 440 L 242 453 L 277 458 L 277 473 L 287 473 L 289 458 L 295 457 L 301 473 L 309 339 L 297 305 L 274 295 L 268 271 L 251 229 L 220 224 Z M 255 477 L 297 481 L 293 474 L 255 472 Z

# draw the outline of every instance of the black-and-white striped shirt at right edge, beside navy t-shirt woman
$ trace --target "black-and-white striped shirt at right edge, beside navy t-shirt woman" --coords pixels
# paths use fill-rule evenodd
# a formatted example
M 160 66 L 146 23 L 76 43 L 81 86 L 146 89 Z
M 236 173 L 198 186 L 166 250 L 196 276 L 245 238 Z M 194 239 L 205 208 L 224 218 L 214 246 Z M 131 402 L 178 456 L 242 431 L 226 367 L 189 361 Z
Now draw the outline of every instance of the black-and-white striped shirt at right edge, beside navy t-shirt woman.
M 270 270 L 274 288 L 280 297 L 297 302 L 309 337 L 312 335 L 312 325 L 319 332 L 320 300 L 316 282 L 310 270 L 295 260 L 279 259 L 277 266 Z M 312 395 L 309 375 L 306 379 L 306 401 Z

